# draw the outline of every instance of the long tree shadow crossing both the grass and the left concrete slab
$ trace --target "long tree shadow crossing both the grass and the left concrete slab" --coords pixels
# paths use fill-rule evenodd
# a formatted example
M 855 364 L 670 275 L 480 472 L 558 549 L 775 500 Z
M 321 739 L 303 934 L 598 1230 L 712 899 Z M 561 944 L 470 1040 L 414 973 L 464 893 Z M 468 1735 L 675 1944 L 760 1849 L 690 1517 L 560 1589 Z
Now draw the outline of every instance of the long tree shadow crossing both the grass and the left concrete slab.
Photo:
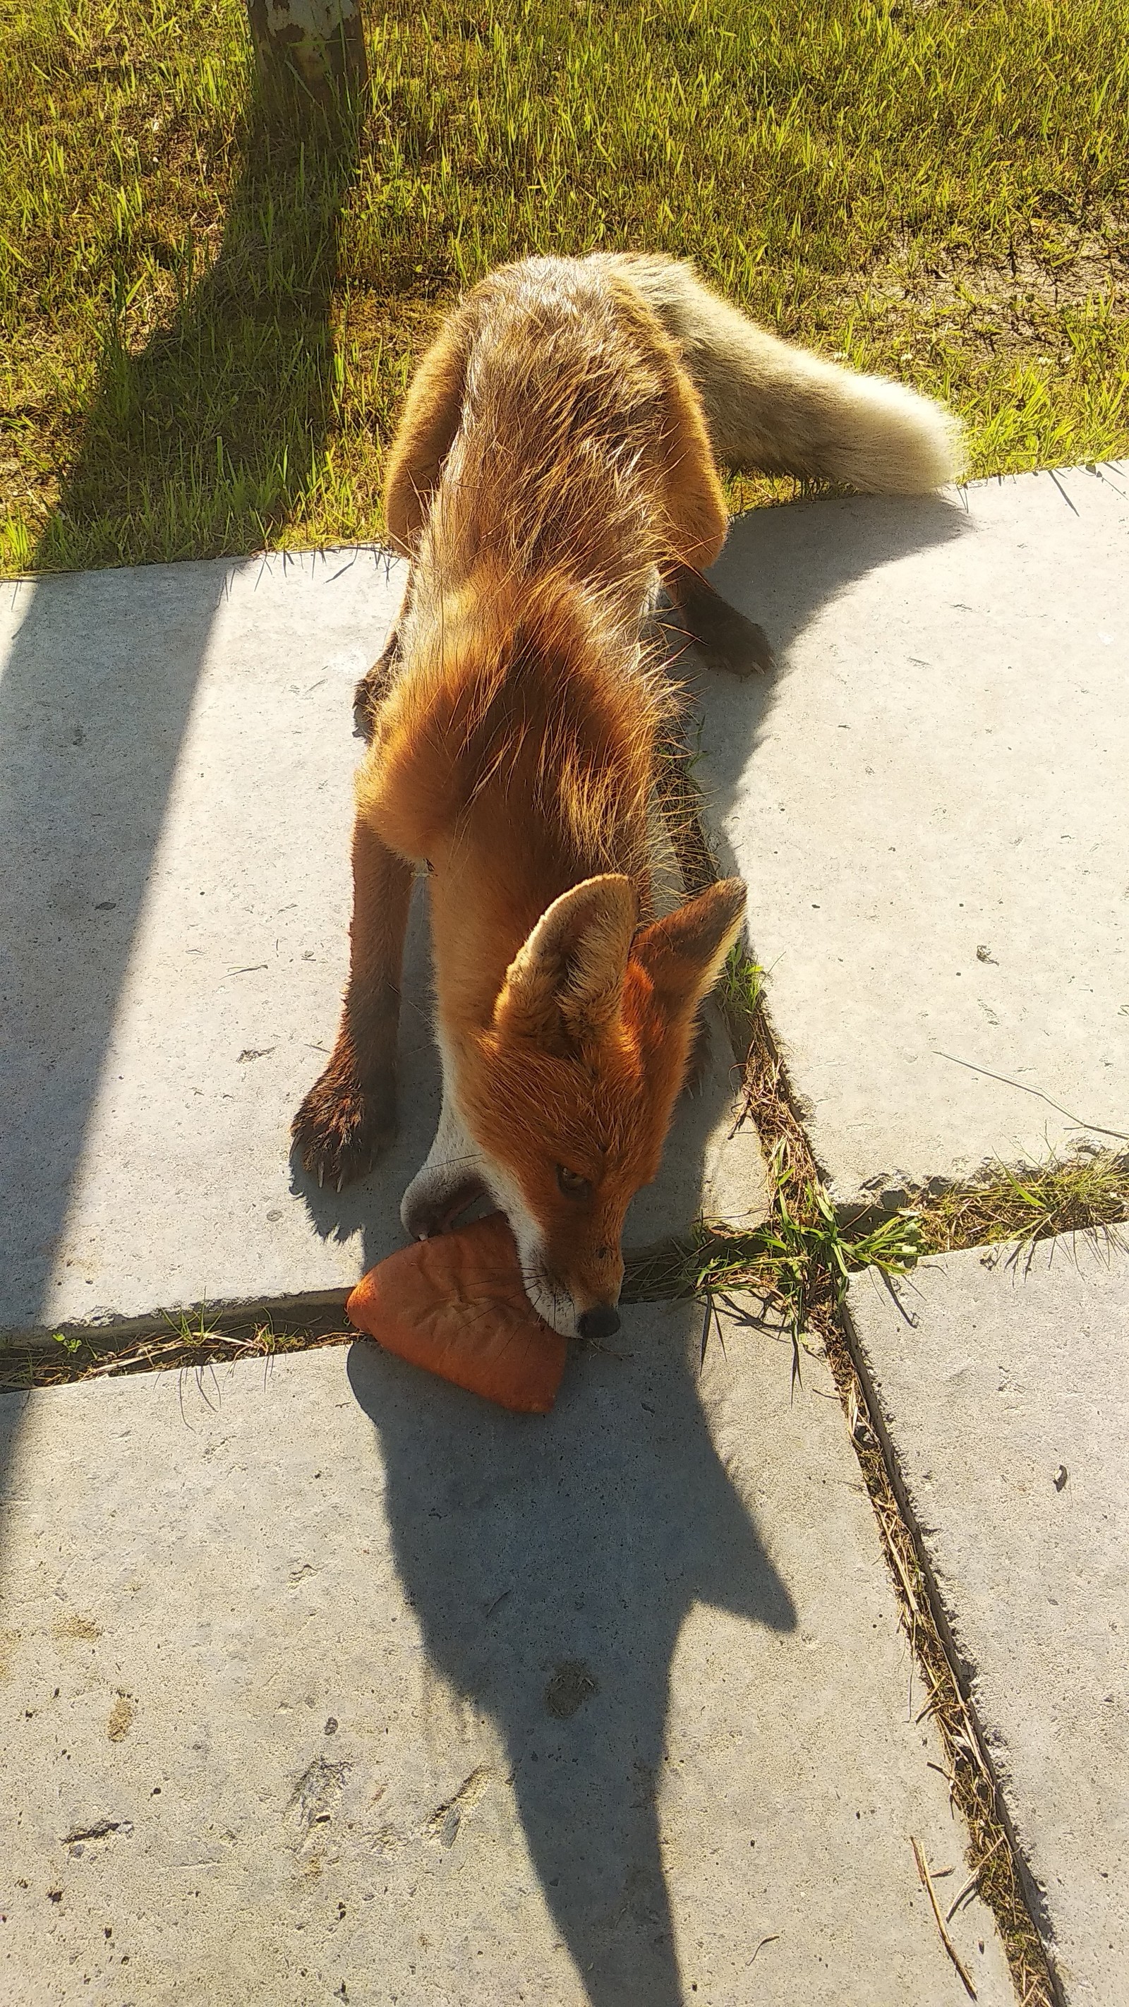
M 168 550 L 180 532 L 195 550 L 257 546 L 301 496 L 333 413 L 329 309 L 357 126 L 331 130 L 311 112 L 305 130 L 291 120 L 279 132 L 253 100 L 243 163 L 211 271 L 140 353 L 106 345 L 44 566 L 86 528 L 136 526 L 146 512 Z M 48 1303 L 217 612 L 213 580 L 195 612 L 178 588 L 170 626 L 166 578 L 0 588 L 12 594 L 0 676 L 0 1276 L 12 1323 L 36 1323 Z

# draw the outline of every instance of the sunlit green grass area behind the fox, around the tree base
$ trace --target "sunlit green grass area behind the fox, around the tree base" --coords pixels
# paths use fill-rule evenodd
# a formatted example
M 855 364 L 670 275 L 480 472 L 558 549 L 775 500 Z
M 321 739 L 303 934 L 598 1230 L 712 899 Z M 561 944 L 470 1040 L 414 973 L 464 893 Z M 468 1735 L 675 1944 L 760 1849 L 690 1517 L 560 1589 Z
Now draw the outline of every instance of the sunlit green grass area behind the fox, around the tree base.
M 339 149 L 271 130 L 243 0 L 0 0 L 0 48 L 8 570 L 379 536 L 411 359 L 525 251 L 690 255 L 975 472 L 1129 450 L 1127 0 L 391 0 Z

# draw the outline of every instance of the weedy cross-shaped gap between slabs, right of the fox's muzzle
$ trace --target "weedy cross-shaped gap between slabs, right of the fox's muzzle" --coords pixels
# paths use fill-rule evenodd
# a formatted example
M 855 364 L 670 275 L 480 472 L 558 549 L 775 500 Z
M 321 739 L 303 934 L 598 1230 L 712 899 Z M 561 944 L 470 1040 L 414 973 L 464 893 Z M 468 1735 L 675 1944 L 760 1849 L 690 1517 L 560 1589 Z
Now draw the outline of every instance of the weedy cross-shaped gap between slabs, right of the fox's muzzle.
M 688 891 L 698 889 L 718 869 L 686 761 L 670 759 L 664 811 Z M 664 1284 L 664 1295 L 682 1288 L 706 1299 L 704 1345 L 714 1297 L 728 1288 L 760 1295 L 764 1323 L 776 1333 L 790 1331 L 796 1377 L 802 1375 L 806 1349 L 826 1353 L 910 1646 L 908 1708 L 916 1720 L 932 1716 L 936 1722 L 949 1762 L 951 1802 L 969 1830 L 967 1889 L 979 1889 L 997 1917 L 1019 2001 L 1025 2007 L 1065 2007 L 1033 1919 L 1025 1862 L 1005 1822 L 997 1778 L 963 1690 L 953 1640 L 902 1509 L 892 1445 L 872 1419 L 878 1407 L 860 1375 L 844 1293 L 848 1274 L 864 1266 L 876 1268 L 892 1286 L 894 1276 L 906 1274 L 922 1254 L 955 1244 L 953 1236 L 961 1232 L 1015 1238 L 1017 1208 L 1021 1232 L 1037 1238 L 1063 1230 L 1067 1220 L 1075 1228 L 1113 1230 L 1129 1218 L 1129 1164 L 1113 1156 L 1085 1156 L 1045 1166 L 1027 1180 L 1001 1168 L 995 1178 L 989 1174 L 971 1188 L 920 1194 L 920 1206 L 906 1192 L 906 1204 L 894 1210 L 866 1208 L 840 1218 L 788 1082 L 764 983 L 764 969 L 738 945 L 722 983 L 722 1012 L 738 1060 L 744 1054 L 746 1114 L 768 1158 L 772 1214 L 762 1228 L 740 1236 L 704 1224 L 682 1250 L 682 1274 L 674 1266 L 654 1274 L 656 1295 Z M 924 1696 L 914 1694 L 914 1666 Z

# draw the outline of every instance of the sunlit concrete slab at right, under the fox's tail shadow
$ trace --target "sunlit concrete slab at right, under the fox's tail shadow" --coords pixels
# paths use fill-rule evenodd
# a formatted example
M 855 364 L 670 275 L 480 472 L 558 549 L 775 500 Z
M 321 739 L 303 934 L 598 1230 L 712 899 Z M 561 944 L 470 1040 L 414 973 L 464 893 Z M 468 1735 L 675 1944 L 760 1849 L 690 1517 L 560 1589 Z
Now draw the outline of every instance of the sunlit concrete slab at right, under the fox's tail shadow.
M 1127 570 L 1129 464 L 730 532 L 696 773 L 844 1202 L 1129 1136 Z

